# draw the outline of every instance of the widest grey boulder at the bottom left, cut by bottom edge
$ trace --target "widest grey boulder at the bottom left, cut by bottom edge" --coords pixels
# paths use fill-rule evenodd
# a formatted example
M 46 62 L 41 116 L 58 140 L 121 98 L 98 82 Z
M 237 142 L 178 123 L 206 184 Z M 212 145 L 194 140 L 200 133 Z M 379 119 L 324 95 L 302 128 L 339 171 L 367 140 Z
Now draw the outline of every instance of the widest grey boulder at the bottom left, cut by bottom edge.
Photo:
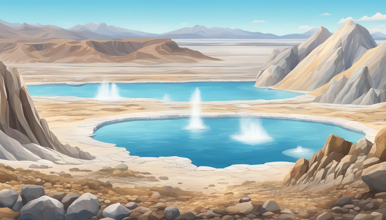
M 41 196 L 23 206 L 18 220 L 63 220 L 64 207 L 49 196 Z M 79 219 L 81 220 L 81 219 Z

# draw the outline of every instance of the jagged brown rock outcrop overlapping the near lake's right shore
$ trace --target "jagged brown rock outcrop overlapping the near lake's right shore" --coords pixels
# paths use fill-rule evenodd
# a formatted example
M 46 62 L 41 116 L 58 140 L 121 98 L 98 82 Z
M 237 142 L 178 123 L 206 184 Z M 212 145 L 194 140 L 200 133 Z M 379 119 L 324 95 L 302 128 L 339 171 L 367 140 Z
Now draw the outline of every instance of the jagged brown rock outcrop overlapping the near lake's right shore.
M 304 158 L 296 161 L 285 176 L 284 185 L 306 191 L 366 186 L 367 182 L 362 181 L 364 170 L 386 160 L 385 138 L 385 129 L 379 132 L 374 145 L 366 138 L 351 144 L 330 135 L 323 149 L 313 154 L 310 161 Z

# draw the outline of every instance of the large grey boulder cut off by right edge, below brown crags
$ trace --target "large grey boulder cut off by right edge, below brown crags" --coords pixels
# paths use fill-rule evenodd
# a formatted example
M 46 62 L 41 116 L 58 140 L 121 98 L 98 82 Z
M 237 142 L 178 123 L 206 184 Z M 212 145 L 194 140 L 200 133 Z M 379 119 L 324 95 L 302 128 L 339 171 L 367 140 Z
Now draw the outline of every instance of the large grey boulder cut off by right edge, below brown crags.
M 362 180 L 377 193 L 386 192 L 386 162 L 364 169 Z

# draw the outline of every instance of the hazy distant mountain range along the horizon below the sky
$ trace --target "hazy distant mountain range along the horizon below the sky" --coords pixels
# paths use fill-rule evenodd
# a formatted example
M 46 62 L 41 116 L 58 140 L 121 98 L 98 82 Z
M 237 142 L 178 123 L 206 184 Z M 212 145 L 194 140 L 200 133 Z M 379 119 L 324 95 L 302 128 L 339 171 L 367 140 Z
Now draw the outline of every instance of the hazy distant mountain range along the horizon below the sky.
M 230 29 L 221 27 L 205 27 L 195 25 L 184 27 L 163 34 L 152 34 L 139 30 L 130 30 L 105 23 L 74 25 L 63 29 L 55 25 L 20 24 L 0 20 L 0 39 L 113 39 L 113 38 L 171 38 L 171 39 L 308 39 L 318 29 L 309 30 L 303 34 L 287 34 L 283 36 L 265 34 L 261 32 L 250 32 L 242 29 Z M 386 39 L 386 34 L 376 32 L 372 34 L 376 40 Z

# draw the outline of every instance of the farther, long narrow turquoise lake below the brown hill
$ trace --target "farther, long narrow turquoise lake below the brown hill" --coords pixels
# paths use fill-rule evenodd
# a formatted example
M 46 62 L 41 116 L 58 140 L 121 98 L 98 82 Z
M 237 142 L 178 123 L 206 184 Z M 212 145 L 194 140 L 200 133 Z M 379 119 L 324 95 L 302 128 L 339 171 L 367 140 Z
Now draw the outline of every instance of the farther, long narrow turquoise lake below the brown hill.
M 101 100 L 153 98 L 169 101 L 189 101 L 196 87 L 201 90 L 202 101 L 230 101 L 255 99 L 286 99 L 302 93 L 256 88 L 254 82 L 188 82 L 188 83 L 116 83 L 66 84 L 28 86 L 31 96 L 77 96 Z

